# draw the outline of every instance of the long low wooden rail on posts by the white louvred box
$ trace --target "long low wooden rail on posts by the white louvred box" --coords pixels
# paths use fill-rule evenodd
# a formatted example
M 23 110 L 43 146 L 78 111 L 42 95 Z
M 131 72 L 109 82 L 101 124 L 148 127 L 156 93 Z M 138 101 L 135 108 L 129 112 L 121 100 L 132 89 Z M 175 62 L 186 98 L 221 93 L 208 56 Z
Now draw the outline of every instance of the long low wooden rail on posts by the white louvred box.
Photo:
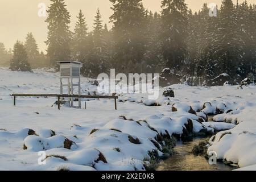
M 114 99 L 115 100 L 115 110 L 117 110 L 117 99 L 118 96 L 85 96 L 85 95 L 68 95 L 68 94 L 11 94 L 14 98 L 14 106 L 16 106 L 16 97 L 57 97 L 58 101 L 58 109 L 60 110 L 60 98 L 68 97 L 68 98 L 106 98 L 106 99 Z

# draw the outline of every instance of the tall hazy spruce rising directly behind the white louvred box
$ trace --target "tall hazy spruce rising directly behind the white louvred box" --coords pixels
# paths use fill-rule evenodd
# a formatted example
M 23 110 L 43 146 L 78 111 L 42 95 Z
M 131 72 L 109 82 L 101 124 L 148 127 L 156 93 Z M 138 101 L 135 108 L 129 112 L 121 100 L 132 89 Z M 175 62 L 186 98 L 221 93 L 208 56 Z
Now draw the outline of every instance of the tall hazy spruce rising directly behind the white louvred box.
M 64 0 L 51 0 L 51 5 L 47 10 L 48 16 L 48 36 L 46 44 L 47 56 L 51 65 L 57 69 L 57 61 L 71 59 L 71 31 L 69 31 L 70 15 L 66 8 Z

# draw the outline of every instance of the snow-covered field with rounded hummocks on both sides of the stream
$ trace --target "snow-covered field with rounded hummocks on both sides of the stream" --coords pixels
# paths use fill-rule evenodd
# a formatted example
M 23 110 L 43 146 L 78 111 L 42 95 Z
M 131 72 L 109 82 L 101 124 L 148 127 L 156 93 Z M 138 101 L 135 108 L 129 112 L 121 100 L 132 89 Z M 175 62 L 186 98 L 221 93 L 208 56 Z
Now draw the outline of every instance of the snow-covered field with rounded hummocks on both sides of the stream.
M 97 90 L 88 78 L 81 82 L 82 94 Z M 118 110 L 103 99 L 87 101 L 86 110 L 57 110 L 56 98 L 18 97 L 14 107 L 12 93 L 59 93 L 59 73 L 0 68 L 0 170 L 144 170 L 152 154 L 163 155 L 163 137 L 203 131 L 220 131 L 208 152 L 256 169 L 255 86 L 171 88 L 175 98 L 163 97 L 164 89 L 157 101 L 119 96 Z M 216 108 L 225 114 L 204 122 Z M 38 164 L 39 151 L 46 165 Z

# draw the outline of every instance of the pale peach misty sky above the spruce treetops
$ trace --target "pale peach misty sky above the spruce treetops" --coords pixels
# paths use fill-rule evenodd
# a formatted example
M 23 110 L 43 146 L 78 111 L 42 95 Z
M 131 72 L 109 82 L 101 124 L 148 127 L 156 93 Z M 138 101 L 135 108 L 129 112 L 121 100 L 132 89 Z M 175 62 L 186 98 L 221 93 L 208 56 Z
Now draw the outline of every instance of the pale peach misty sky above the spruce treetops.
M 143 0 L 144 6 L 151 11 L 160 11 L 160 2 L 162 0 Z M 236 2 L 236 0 L 233 0 Z M 15 41 L 18 39 L 24 42 L 27 32 L 32 32 L 39 45 L 40 51 L 45 52 L 47 38 L 47 23 L 46 18 L 38 16 L 39 3 L 46 3 L 48 6 L 49 0 L 0 0 L 0 42 L 3 42 L 6 48 L 13 48 Z M 76 15 L 81 9 L 85 14 L 86 22 L 90 30 L 96 14 L 97 7 L 100 8 L 102 20 L 108 23 L 109 16 L 112 15 L 110 7 L 112 3 L 108 0 L 65 0 L 68 11 L 71 13 L 71 30 L 76 22 Z M 198 11 L 204 2 L 217 3 L 220 5 L 221 0 L 187 0 L 188 7 L 193 11 Z M 239 2 L 242 2 L 240 0 Z M 256 0 L 247 0 L 249 3 L 254 3 Z

